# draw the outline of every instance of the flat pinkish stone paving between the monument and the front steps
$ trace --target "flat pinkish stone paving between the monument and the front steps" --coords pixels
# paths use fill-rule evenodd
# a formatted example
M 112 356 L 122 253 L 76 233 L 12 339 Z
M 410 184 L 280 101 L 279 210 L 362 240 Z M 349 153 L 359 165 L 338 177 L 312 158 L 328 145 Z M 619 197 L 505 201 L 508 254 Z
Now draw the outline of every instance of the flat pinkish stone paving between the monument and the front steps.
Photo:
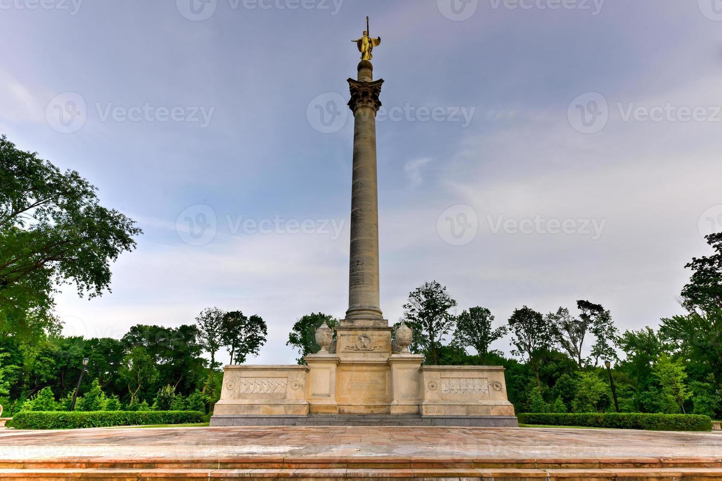
M 470 459 L 520 461 L 722 459 L 722 436 L 546 428 L 233 427 L 4 430 L 0 461 L 18 459 L 230 459 L 287 461 Z

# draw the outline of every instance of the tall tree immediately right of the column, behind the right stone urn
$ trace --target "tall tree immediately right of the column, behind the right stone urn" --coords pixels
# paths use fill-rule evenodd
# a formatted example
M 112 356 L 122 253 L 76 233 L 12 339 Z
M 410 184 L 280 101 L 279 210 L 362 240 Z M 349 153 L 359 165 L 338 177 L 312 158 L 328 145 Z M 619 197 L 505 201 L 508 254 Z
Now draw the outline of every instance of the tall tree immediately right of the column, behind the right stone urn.
M 449 312 L 453 307 L 456 307 L 456 300 L 436 281 L 424 282 L 417 287 L 409 293 L 409 301 L 404 304 L 404 321 L 414 329 L 414 334 L 419 335 L 419 345 L 430 352 L 435 365 L 438 365 L 438 344 L 456 324 L 456 316 Z

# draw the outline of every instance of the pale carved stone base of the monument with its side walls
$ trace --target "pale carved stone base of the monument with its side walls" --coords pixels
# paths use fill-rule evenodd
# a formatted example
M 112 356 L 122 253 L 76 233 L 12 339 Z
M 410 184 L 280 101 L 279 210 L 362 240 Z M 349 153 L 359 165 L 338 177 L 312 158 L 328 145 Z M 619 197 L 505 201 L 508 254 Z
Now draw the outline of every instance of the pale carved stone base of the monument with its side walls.
M 388 352 L 391 329 L 353 330 L 360 342 L 339 343 L 351 352 L 308 355 L 307 365 L 227 365 L 211 425 L 518 425 L 504 368 L 422 365 Z

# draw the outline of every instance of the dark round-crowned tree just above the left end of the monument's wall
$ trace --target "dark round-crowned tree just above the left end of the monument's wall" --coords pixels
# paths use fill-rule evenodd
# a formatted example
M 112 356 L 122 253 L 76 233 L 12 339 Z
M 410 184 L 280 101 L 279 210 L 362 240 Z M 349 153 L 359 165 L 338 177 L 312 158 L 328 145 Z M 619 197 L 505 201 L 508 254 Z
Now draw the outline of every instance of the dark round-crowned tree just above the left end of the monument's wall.
M 230 354 L 230 363 L 245 363 L 248 355 L 258 355 L 261 346 L 266 344 L 268 326 L 261 316 L 243 315 L 241 311 L 225 313 L 221 323 L 222 344 Z

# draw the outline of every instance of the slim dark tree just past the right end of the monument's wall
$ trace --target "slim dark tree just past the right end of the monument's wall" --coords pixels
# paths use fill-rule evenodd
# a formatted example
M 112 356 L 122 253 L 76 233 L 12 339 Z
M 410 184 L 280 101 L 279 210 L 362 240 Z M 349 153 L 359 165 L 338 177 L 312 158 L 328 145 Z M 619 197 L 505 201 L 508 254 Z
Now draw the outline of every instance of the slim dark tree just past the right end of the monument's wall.
M 552 346 L 552 333 L 541 313 L 523 306 L 515 309 L 509 318 L 509 328 L 513 337 L 511 343 L 513 355 L 519 356 L 531 365 L 536 375 L 536 386 L 541 389 L 539 363 L 541 357 Z

